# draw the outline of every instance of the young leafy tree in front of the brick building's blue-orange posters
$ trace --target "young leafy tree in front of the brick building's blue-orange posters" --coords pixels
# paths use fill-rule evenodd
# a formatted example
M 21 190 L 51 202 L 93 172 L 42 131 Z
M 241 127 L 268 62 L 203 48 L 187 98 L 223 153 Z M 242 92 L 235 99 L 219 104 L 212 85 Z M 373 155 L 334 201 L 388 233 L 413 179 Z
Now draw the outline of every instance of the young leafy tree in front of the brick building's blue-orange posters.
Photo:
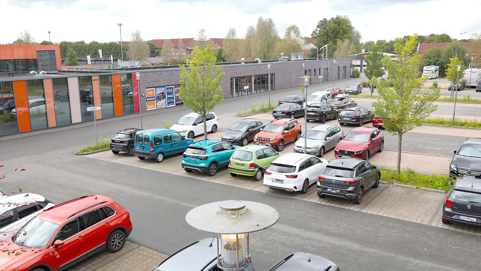
M 207 139 L 207 114 L 224 100 L 221 88 L 222 78 L 226 74 L 222 66 L 215 66 L 215 54 L 210 45 L 192 52 L 192 59 L 187 60 L 181 69 L 181 91 L 179 97 L 184 106 L 198 113 L 204 119 L 204 138 Z

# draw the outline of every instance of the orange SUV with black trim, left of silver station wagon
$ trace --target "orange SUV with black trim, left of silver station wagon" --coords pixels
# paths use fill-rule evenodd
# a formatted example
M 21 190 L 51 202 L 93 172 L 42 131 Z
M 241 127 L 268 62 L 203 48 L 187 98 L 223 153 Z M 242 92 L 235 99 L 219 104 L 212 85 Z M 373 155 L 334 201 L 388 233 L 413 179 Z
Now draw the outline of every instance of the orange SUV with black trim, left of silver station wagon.
M 302 128 L 295 119 L 278 118 L 262 129 L 254 137 L 254 144 L 271 146 L 282 151 L 284 146 L 300 138 Z

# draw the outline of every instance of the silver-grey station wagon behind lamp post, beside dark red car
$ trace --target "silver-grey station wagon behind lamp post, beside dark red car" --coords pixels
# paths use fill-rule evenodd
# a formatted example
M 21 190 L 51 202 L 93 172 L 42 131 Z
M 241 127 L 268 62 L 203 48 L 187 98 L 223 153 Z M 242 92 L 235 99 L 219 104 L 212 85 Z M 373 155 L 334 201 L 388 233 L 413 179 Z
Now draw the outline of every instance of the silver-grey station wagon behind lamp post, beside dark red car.
M 294 151 L 304 153 L 304 144 L 307 136 L 307 154 L 313 154 L 322 157 L 324 152 L 336 147 L 343 139 L 344 131 L 339 125 L 319 124 L 316 125 L 302 135 L 302 137 L 294 144 Z

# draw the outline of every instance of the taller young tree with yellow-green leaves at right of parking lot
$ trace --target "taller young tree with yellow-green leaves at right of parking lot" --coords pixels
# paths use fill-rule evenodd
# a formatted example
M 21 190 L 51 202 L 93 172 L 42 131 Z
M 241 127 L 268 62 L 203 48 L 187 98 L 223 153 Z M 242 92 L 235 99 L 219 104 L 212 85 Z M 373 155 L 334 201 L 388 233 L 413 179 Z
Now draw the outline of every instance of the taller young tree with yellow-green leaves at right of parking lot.
M 422 88 L 428 80 L 427 77 L 416 78 L 416 69 L 419 54 L 415 51 L 417 46 L 416 35 L 406 40 L 397 38 L 394 49 L 397 62 L 389 57 L 384 58 L 384 65 L 389 72 L 389 79 L 393 87 L 389 88 L 387 82 L 378 83 L 379 99 L 372 103 L 374 114 L 383 120 L 384 128 L 398 136 L 397 146 L 397 173 L 401 172 L 401 150 L 404 133 L 411 131 L 415 126 L 422 125 L 437 105 L 434 101 L 439 98 L 440 88 Z

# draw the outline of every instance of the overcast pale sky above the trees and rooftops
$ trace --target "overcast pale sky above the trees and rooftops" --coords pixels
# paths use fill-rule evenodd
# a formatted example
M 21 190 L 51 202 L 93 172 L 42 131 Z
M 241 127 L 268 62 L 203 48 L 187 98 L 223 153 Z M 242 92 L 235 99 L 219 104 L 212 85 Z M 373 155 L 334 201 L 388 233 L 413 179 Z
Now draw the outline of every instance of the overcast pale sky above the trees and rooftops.
M 352 2 L 352 3 L 351 3 Z M 322 18 L 347 15 L 361 41 L 390 40 L 412 33 L 481 32 L 480 0 L 0 0 L 0 43 L 11 43 L 29 29 L 37 42 L 92 40 L 129 41 L 140 30 L 145 40 L 197 37 L 222 38 L 229 27 L 243 37 L 259 16 L 272 18 L 279 35 L 298 25 L 311 36 Z M 456 11 L 458 10 L 458 11 Z M 469 12 L 472 16 L 468 16 Z

